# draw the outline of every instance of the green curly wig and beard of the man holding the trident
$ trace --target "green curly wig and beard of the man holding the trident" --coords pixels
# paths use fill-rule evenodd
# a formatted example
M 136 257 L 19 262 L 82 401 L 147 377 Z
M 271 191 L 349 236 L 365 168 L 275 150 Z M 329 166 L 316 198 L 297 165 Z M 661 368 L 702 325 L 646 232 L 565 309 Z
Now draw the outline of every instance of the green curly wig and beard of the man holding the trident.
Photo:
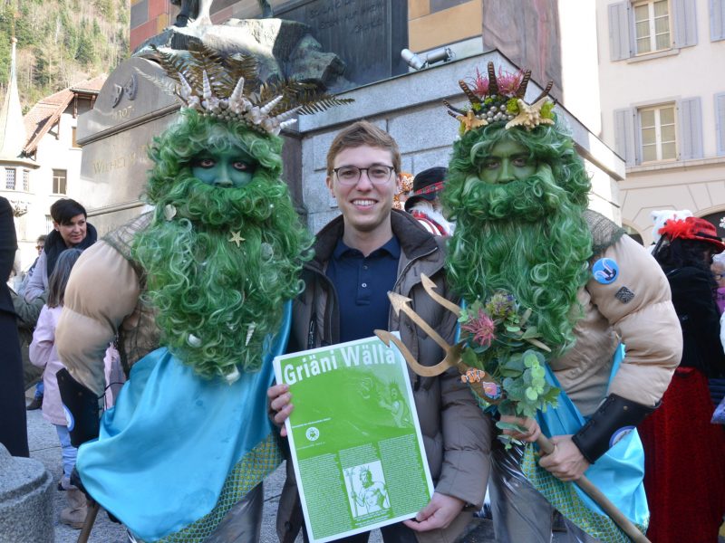
M 533 176 L 502 185 L 478 178 L 488 152 L 509 138 L 536 158 Z M 444 209 L 456 221 L 448 277 L 469 303 L 512 293 L 556 354 L 573 345 L 589 273 L 592 237 L 583 213 L 590 182 L 571 138 L 558 127 L 531 132 L 501 125 L 470 130 L 453 146 Z

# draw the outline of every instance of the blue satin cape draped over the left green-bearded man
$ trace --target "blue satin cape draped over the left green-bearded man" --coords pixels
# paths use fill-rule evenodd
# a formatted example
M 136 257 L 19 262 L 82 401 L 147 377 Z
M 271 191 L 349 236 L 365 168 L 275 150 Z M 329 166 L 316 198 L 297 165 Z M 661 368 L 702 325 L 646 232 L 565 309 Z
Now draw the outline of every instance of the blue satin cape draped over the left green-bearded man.
M 83 443 L 76 465 L 105 510 L 144 540 L 168 536 L 208 514 L 234 468 L 272 431 L 266 389 L 272 359 L 284 353 L 292 303 L 256 373 L 228 385 L 197 376 L 158 348 L 131 368 L 98 439 Z

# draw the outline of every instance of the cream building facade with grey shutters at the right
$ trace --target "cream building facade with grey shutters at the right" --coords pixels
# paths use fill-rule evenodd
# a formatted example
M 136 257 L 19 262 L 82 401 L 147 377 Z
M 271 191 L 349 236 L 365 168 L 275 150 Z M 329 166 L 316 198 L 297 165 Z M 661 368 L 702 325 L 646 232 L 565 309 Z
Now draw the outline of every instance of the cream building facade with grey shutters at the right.
M 689 209 L 725 236 L 725 1 L 597 0 L 604 142 L 625 159 L 622 221 Z

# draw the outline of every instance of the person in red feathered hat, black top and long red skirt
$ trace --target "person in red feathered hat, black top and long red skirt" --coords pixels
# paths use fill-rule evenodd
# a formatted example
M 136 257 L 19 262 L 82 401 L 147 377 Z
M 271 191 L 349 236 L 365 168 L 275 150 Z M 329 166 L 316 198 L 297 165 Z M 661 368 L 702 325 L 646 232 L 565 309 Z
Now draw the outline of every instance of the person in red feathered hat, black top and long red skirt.
M 708 377 L 725 376 L 713 296 L 717 284 L 710 271 L 712 256 L 725 244 L 698 217 L 668 220 L 659 233 L 652 255 L 670 282 L 683 350 L 662 406 L 639 426 L 651 513 L 647 537 L 657 543 L 708 543 L 718 540 L 725 513 L 725 433 L 710 424 L 708 391 Z

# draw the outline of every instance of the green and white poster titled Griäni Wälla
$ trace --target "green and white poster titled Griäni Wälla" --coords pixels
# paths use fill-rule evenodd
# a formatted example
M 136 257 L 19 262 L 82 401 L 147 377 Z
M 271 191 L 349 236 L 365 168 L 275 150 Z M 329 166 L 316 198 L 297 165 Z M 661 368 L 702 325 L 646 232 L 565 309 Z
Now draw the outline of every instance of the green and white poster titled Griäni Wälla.
M 295 409 L 287 436 L 304 521 L 318 543 L 404 519 L 433 493 L 400 351 L 359 339 L 275 358 Z

